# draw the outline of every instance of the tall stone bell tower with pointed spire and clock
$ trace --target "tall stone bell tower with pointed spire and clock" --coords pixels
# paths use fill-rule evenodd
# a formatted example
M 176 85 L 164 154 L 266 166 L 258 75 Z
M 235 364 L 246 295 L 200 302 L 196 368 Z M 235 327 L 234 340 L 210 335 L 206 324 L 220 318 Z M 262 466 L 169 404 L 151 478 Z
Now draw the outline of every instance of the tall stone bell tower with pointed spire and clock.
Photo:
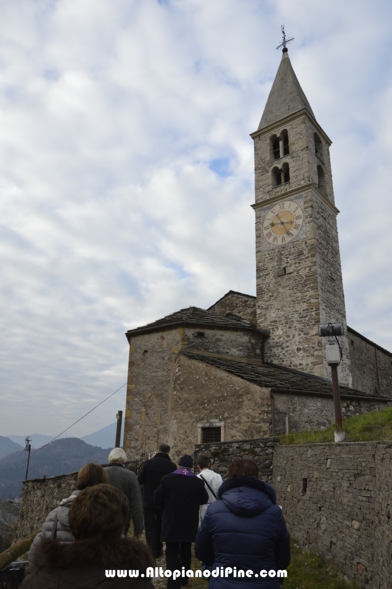
M 344 323 L 339 378 L 350 350 L 329 148 L 287 48 L 255 142 L 256 313 L 269 329 L 265 360 L 331 378 L 319 323 Z

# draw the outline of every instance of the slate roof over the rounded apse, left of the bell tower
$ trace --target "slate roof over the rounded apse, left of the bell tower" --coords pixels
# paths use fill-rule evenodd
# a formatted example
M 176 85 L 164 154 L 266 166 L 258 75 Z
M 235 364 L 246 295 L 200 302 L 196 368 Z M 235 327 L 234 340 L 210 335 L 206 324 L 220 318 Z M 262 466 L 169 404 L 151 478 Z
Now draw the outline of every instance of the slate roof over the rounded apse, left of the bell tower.
M 264 337 L 269 336 L 269 331 L 265 329 L 258 329 L 253 323 L 242 319 L 242 317 L 228 313 L 227 315 L 217 315 L 211 311 L 200 309 L 199 307 L 186 307 L 180 309 L 175 313 L 166 315 L 162 319 L 157 319 L 147 325 L 129 329 L 126 333 L 127 339 L 138 333 L 145 333 L 154 331 L 162 327 L 177 327 L 177 326 L 204 326 L 204 327 L 220 327 L 221 329 L 238 329 L 258 332 Z

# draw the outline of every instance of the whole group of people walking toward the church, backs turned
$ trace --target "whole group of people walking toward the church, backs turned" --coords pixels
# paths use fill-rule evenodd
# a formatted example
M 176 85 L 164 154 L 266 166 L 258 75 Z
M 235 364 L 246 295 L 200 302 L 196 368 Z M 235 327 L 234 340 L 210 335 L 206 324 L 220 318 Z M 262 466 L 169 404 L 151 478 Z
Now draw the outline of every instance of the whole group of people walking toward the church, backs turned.
M 197 458 L 197 474 L 192 456 L 174 464 L 167 444 L 137 477 L 125 462 L 123 449 L 114 448 L 109 466 L 80 469 L 75 491 L 48 514 L 31 546 L 32 574 L 22 589 L 151 589 L 146 571 L 163 556 L 163 542 L 169 571 L 191 569 L 195 543 L 210 589 L 281 586 L 276 571 L 289 564 L 289 536 L 275 489 L 258 478 L 256 462 L 233 461 L 225 481 L 206 454 Z M 147 545 L 140 541 L 143 515 Z M 138 576 L 108 578 L 107 569 L 137 570 Z M 184 574 L 169 576 L 167 587 L 179 589 L 188 581 Z

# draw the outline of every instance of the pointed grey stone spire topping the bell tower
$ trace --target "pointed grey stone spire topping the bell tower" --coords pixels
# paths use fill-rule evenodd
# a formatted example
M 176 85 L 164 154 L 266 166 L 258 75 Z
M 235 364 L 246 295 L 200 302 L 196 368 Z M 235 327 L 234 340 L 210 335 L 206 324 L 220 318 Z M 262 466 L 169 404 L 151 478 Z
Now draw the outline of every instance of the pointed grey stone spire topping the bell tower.
M 288 52 L 284 52 L 258 130 L 276 123 L 301 108 L 307 108 L 315 118 L 311 105 L 292 68 Z

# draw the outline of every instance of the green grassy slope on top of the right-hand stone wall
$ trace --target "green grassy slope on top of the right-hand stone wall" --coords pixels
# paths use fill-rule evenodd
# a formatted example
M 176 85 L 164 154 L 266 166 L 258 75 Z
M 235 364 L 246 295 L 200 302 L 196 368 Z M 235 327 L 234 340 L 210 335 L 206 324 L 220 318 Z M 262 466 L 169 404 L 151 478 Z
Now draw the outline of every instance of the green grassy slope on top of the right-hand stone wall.
M 343 419 L 346 442 L 367 442 L 392 440 L 392 407 L 364 413 L 358 417 Z M 319 442 L 334 442 L 335 425 L 323 431 L 311 431 L 288 434 L 281 437 L 282 444 L 317 444 Z

